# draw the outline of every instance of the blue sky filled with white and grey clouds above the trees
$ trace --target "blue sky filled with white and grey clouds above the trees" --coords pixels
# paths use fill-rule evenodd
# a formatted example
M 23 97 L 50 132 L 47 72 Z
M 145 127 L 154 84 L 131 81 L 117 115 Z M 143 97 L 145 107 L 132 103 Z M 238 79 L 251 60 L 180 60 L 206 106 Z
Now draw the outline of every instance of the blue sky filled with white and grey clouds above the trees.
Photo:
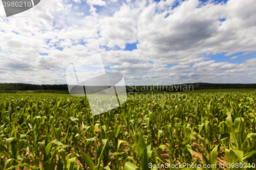
M 6 17 L 0 83 L 67 84 L 100 53 L 126 85 L 256 83 L 255 0 L 41 0 Z

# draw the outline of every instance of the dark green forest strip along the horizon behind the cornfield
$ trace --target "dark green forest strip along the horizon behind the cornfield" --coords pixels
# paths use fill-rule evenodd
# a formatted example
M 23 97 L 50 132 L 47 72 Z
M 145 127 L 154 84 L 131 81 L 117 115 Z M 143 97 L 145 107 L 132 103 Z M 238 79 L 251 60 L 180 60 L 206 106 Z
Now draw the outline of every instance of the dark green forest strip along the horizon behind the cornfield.
M 152 91 L 152 90 L 159 90 L 159 91 L 169 91 L 168 89 L 170 87 L 175 87 L 177 88 L 178 86 L 180 87 L 182 85 L 182 88 L 187 85 L 187 87 L 190 85 L 193 85 L 194 90 L 198 89 L 220 89 L 220 88 L 256 88 L 256 84 L 218 84 L 218 83 L 186 83 L 186 84 L 177 84 L 177 85 L 161 85 L 160 86 L 155 86 L 153 88 L 153 85 L 148 85 L 146 88 L 143 88 L 143 86 L 139 85 L 136 86 L 126 86 L 127 92 L 129 91 Z M 18 92 L 18 91 L 37 91 L 37 92 L 61 92 L 61 93 L 69 93 L 68 91 L 68 85 L 67 84 L 54 84 L 54 85 L 34 85 L 34 84 L 24 84 L 24 83 L 0 83 L 0 93 L 13 93 L 13 92 Z M 192 90 L 192 89 L 190 89 Z M 177 88 L 177 90 L 174 91 L 182 91 L 180 88 Z

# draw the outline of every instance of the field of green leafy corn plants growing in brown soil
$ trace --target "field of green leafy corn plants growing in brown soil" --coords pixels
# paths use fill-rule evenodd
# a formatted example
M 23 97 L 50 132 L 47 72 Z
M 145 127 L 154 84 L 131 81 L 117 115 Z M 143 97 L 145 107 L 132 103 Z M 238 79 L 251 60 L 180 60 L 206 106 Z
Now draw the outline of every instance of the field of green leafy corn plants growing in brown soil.
M 87 98 L 3 93 L 0 169 L 255 169 L 255 90 L 133 92 L 97 116 Z

